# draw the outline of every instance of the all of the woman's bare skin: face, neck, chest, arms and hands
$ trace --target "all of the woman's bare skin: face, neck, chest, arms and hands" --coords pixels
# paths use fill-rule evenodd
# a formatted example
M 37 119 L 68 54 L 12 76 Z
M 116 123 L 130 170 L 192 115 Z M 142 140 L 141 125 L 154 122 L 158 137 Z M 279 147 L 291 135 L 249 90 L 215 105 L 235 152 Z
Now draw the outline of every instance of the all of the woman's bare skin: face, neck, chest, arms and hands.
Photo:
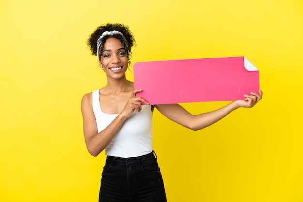
M 136 111 L 140 113 L 141 102 L 149 104 L 144 98 L 135 97 L 141 89 L 134 89 L 133 82 L 125 77 L 128 57 L 120 40 L 109 38 L 100 60 L 100 66 L 107 75 L 107 85 L 99 90 L 101 110 L 106 114 L 119 114 L 104 130 L 98 133 L 95 115 L 92 110 L 92 93 L 83 96 L 81 110 L 85 143 L 89 153 L 97 156 L 115 137 L 124 121 Z M 114 68 L 120 68 L 115 70 Z M 262 91 L 244 95 L 244 100 L 233 101 L 226 106 L 203 114 L 192 115 L 179 104 L 156 105 L 155 107 L 170 120 L 191 130 L 200 130 L 219 121 L 232 111 L 253 107 L 262 99 Z

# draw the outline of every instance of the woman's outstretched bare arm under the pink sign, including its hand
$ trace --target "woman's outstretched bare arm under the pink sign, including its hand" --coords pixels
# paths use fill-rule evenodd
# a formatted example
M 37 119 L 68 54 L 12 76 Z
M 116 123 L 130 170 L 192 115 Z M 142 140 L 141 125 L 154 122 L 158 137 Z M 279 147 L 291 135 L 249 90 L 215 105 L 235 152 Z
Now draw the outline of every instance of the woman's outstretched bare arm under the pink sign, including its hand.
M 233 101 L 220 109 L 199 115 L 190 114 L 179 104 L 156 105 L 156 108 L 170 120 L 197 131 L 214 124 L 239 107 L 253 107 L 262 99 L 262 91 L 259 93 L 244 95 L 245 100 Z

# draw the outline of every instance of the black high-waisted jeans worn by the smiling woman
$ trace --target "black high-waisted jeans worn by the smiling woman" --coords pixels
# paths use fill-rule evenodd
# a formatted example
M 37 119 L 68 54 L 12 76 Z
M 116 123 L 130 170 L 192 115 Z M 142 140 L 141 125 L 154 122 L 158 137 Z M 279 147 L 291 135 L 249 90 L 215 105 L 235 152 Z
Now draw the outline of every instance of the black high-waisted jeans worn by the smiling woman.
M 154 151 L 131 158 L 107 156 L 99 202 L 166 202 Z

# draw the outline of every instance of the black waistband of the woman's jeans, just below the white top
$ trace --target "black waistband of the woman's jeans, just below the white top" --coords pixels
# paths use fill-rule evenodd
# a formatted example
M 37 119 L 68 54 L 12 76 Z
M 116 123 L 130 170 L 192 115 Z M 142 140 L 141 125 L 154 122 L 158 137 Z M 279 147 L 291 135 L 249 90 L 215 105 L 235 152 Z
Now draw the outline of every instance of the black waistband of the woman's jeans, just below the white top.
M 157 155 L 154 151 L 149 154 L 145 154 L 139 157 L 129 157 L 129 158 L 122 158 L 122 157 L 114 157 L 114 156 L 107 156 L 106 161 L 115 164 L 121 165 L 129 165 L 129 164 L 137 164 L 151 159 L 158 159 Z

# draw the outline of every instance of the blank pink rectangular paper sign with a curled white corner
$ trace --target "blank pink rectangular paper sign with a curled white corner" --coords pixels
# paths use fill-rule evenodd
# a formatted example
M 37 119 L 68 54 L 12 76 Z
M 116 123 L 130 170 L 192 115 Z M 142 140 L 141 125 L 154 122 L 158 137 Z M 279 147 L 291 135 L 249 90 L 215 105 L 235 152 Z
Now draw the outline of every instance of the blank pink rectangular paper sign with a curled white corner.
M 233 101 L 260 89 L 259 71 L 245 57 L 136 62 L 134 84 L 150 104 Z

